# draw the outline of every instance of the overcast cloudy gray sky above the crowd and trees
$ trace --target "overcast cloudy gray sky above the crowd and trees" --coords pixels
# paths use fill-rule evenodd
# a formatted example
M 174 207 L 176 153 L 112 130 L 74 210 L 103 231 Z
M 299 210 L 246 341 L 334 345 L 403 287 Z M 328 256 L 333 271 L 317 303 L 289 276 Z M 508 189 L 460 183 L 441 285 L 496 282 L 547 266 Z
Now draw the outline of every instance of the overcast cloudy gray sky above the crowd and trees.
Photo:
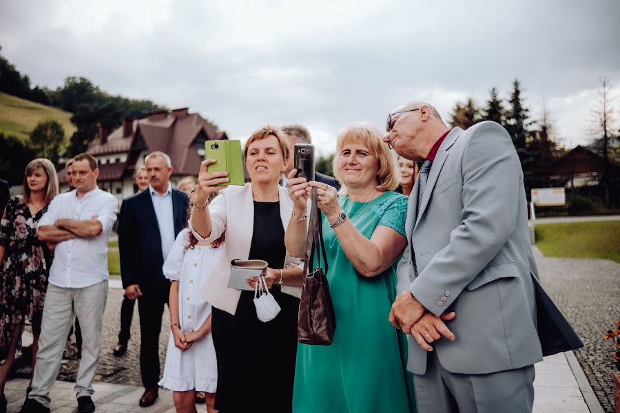
M 544 105 L 575 147 L 592 139 L 601 76 L 620 120 L 619 21 L 617 0 L 0 0 L 0 53 L 33 85 L 84 76 L 233 139 L 300 123 L 322 154 L 408 101 L 448 119 L 519 78 L 532 119 Z

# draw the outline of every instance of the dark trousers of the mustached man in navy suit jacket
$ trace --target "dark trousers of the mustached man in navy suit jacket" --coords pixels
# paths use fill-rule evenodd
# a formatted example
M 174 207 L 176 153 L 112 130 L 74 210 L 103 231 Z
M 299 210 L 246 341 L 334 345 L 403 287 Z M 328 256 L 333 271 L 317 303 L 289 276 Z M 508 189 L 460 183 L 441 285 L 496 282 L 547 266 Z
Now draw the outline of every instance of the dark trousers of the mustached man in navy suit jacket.
M 164 305 L 168 304 L 169 290 L 163 294 L 138 297 L 140 314 L 140 372 L 145 388 L 157 388 L 161 368 L 159 365 L 159 333 Z

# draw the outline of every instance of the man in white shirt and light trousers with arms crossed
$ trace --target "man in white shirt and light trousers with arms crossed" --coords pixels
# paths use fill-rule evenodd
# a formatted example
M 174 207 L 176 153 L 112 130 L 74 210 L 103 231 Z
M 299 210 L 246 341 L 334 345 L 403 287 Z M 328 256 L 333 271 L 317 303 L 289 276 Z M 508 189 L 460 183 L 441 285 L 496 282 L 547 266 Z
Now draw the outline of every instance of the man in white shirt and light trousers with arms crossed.
M 50 390 L 58 375 L 74 315 L 81 320 L 82 359 L 75 384 L 80 413 L 95 410 L 91 395 L 107 300 L 107 239 L 116 220 L 114 195 L 97 187 L 97 160 L 74 158 L 75 191 L 56 196 L 39 221 L 37 236 L 54 248 L 54 262 L 43 310 L 32 391 L 22 412 L 49 412 Z

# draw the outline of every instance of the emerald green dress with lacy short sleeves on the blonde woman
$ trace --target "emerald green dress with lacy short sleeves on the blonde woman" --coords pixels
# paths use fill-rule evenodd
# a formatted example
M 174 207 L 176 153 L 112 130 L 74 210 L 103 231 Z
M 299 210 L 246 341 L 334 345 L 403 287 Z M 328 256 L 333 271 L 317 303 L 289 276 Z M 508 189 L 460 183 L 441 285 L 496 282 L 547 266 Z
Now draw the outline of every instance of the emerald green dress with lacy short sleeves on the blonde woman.
M 339 202 L 365 237 L 380 225 L 406 236 L 404 195 L 387 191 L 366 203 L 350 202 L 348 196 Z M 298 344 L 293 412 L 415 412 L 406 339 L 388 321 L 397 261 L 381 275 L 364 277 L 344 255 L 324 216 L 322 226 L 336 329 L 331 346 Z

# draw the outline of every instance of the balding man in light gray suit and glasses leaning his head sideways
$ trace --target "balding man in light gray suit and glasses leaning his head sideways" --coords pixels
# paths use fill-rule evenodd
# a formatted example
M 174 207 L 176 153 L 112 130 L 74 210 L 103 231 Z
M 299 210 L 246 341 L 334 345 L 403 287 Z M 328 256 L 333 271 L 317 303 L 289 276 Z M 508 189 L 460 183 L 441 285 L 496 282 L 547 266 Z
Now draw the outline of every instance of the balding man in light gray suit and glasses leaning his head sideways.
M 414 102 L 384 140 L 422 165 L 389 315 L 408 334 L 418 411 L 531 412 L 540 287 L 510 136 L 494 122 L 450 130 Z

